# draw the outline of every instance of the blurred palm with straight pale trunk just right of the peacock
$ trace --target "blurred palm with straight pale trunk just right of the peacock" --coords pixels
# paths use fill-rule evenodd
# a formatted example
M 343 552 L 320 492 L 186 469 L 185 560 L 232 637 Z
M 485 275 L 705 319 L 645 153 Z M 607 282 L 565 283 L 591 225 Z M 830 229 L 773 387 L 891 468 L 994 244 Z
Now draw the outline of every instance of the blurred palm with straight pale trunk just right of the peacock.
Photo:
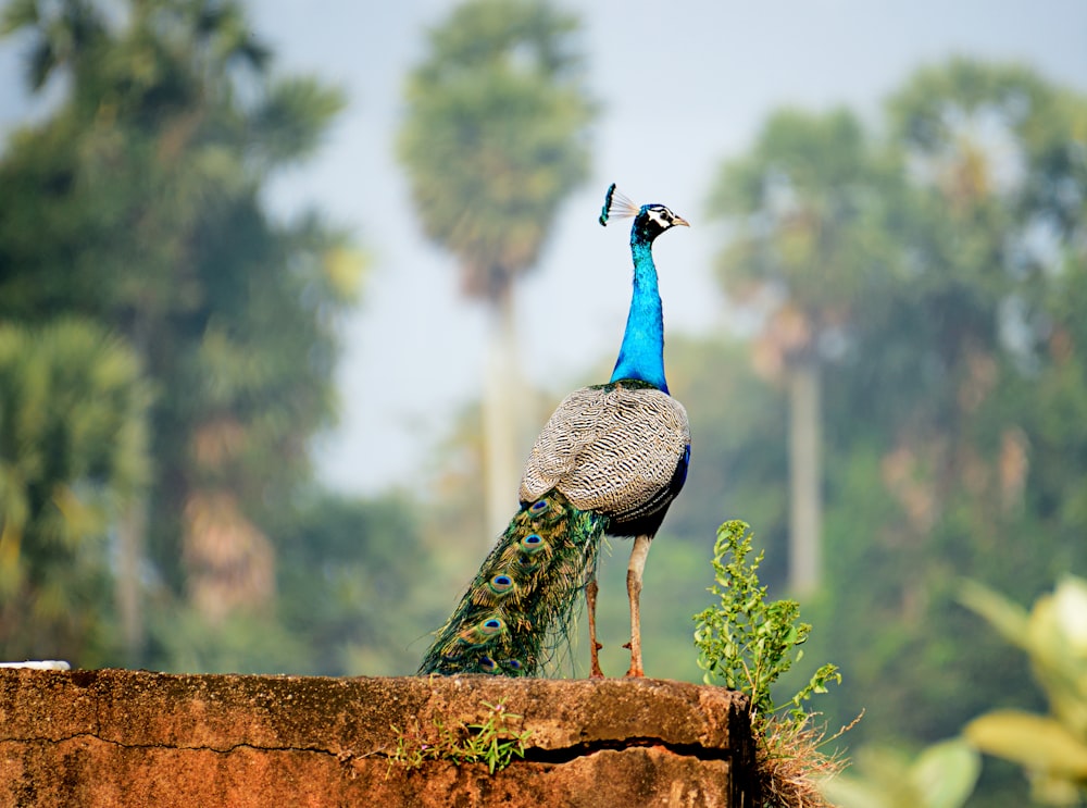
M 763 315 L 755 361 L 789 389 L 790 584 L 820 580 L 820 364 L 840 348 L 852 309 L 894 259 L 886 211 L 899 176 L 860 122 L 837 110 L 785 110 L 751 153 L 717 177 L 711 214 L 728 224 L 717 272 Z

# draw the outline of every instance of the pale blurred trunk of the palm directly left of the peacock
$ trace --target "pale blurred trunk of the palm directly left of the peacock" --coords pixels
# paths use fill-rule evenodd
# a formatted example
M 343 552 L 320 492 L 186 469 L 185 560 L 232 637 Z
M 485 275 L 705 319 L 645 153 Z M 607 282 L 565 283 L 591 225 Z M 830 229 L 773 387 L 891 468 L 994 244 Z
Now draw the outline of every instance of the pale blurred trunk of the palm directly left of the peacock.
M 492 314 L 483 396 L 485 540 L 488 548 L 505 529 L 516 508 L 523 460 L 518 453 L 523 385 L 517 372 L 512 284 L 507 284 L 492 299 Z

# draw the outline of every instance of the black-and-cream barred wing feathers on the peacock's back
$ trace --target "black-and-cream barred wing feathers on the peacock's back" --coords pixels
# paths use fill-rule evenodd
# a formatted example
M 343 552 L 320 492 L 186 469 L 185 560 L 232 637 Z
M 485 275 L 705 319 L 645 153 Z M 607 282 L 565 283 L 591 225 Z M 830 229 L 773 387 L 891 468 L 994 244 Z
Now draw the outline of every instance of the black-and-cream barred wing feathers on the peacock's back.
M 522 501 L 552 488 L 582 510 L 641 510 L 670 485 L 690 444 L 683 405 L 653 387 L 617 383 L 567 396 L 536 439 Z

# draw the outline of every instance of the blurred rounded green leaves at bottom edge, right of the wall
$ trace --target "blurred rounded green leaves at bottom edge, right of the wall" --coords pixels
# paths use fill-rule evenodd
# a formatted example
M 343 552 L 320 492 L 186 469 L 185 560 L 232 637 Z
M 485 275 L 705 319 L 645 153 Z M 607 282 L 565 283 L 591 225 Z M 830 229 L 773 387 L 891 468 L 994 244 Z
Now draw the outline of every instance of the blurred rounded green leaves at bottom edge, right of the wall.
M 864 747 L 848 774 L 822 784 L 838 808 L 962 808 L 982 761 L 962 738 L 944 741 L 909 757 L 890 748 Z

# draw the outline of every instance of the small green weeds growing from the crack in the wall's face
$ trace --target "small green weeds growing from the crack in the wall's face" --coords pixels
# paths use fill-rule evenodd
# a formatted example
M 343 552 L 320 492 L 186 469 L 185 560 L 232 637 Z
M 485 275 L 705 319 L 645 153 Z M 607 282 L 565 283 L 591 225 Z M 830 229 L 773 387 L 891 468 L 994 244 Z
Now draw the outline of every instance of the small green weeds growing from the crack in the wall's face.
M 533 732 L 517 731 L 511 725 L 523 717 L 507 712 L 504 698 L 495 705 L 484 701 L 483 706 L 487 712 L 474 724 L 458 722 L 450 728 L 435 719 L 433 729 L 425 732 L 417 723 L 412 731 L 393 726 L 397 746 L 389 754 L 390 769 L 393 765 L 418 769 L 427 760 L 448 760 L 457 765 L 486 763 L 493 774 L 513 758 L 523 759 Z

